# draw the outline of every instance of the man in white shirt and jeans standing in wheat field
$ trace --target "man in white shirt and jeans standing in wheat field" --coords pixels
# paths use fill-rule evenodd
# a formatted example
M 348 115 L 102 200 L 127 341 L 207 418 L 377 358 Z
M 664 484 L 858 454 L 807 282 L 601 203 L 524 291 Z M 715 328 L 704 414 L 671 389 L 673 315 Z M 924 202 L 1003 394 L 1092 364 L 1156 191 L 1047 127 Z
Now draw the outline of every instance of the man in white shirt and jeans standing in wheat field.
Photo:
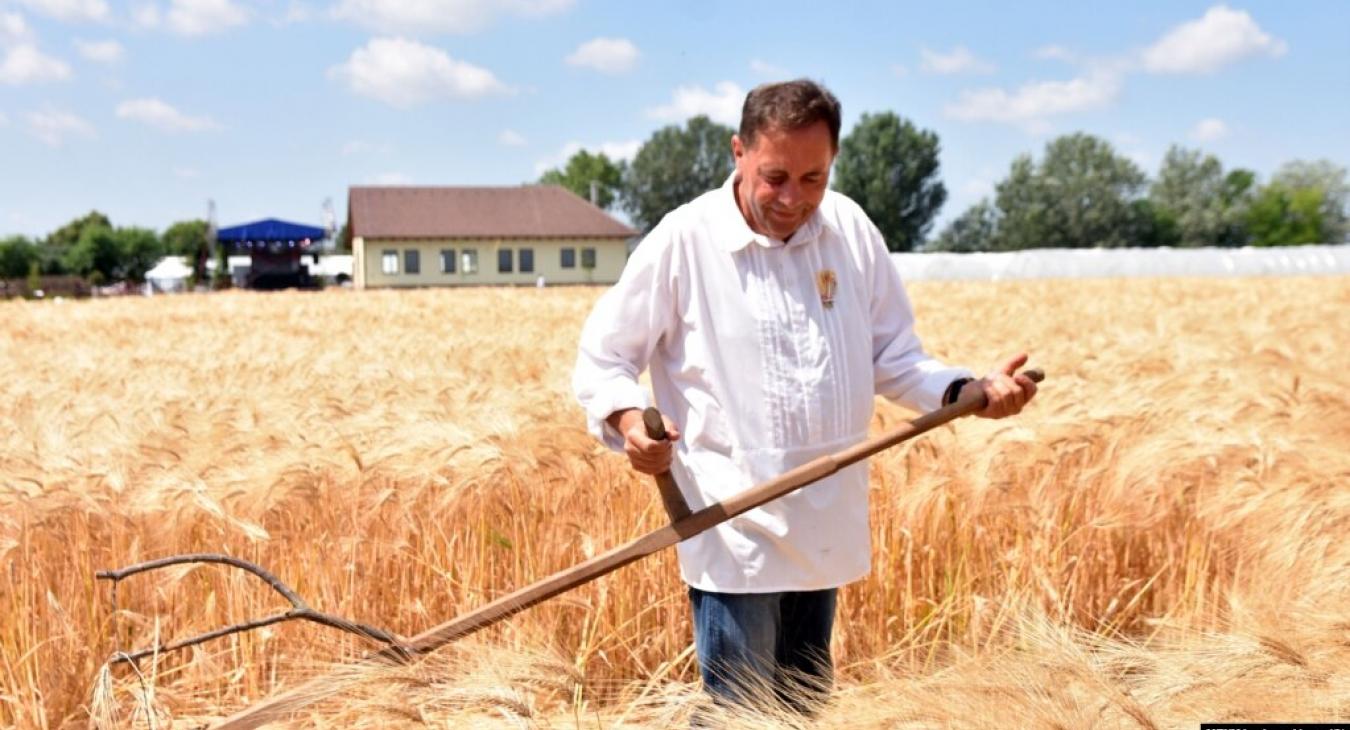
M 923 352 L 880 232 L 829 190 L 838 134 L 818 84 L 752 90 L 732 178 L 667 215 L 586 320 L 574 387 L 591 430 L 640 472 L 670 468 L 695 511 L 864 440 L 876 394 L 926 412 L 973 383 L 990 418 L 1035 394 L 1014 375 L 1025 355 L 973 381 Z M 674 447 L 643 426 L 647 368 Z M 871 567 L 867 464 L 678 549 L 705 688 L 809 710 L 830 685 L 837 590 Z

